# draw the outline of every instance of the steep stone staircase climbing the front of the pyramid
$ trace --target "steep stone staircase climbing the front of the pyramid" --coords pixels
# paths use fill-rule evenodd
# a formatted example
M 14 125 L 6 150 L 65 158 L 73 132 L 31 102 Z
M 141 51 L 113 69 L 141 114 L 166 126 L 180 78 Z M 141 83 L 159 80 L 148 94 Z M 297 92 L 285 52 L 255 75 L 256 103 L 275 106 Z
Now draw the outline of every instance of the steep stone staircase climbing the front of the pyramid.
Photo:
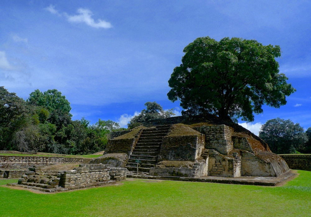
M 151 167 L 155 167 L 160 152 L 163 136 L 171 131 L 172 125 L 161 125 L 156 128 L 144 129 L 128 159 L 126 168 L 129 174 L 136 174 L 137 162 L 140 175 L 149 175 Z

